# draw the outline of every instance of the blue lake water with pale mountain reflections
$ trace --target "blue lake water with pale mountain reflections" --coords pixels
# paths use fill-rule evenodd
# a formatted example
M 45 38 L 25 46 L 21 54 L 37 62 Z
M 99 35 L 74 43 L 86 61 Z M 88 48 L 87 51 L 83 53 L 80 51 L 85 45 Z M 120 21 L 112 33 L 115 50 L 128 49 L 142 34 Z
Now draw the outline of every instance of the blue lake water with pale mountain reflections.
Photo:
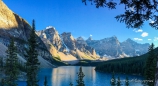
M 111 74 L 96 72 L 95 67 L 82 67 L 83 73 L 85 74 L 84 82 L 85 86 L 111 86 Z M 39 86 L 43 86 L 44 77 L 47 76 L 48 86 L 69 86 L 72 82 L 73 86 L 76 86 L 77 72 L 79 66 L 61 66 L 58 68 L 43 68 L 38 73 Z M 138 75 L 126 75 L 126 74 L 115 74 L 115 77 L 120 77 L 122 84 L 126 76 L 130 80 L 130 86 L 143 86 L 141 84 L 142 76 Z M 18 82 L 18 86 L 26 86 L 26 82 Z M 123 86 L 123 85 L 122 85 Z

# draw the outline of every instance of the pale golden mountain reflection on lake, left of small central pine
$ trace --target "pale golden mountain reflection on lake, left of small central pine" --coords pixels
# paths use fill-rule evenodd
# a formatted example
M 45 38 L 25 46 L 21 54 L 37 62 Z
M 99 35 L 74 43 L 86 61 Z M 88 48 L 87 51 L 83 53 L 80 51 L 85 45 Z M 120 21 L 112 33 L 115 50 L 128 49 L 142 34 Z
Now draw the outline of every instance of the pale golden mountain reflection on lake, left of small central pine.
M 76 83 L 77 72 L 79 67 L 59 67 L 52 70 L 52 85 L 53 86 L 68 86 L 70 82 Z M 89 71 L 89 69 L 85 69 Z

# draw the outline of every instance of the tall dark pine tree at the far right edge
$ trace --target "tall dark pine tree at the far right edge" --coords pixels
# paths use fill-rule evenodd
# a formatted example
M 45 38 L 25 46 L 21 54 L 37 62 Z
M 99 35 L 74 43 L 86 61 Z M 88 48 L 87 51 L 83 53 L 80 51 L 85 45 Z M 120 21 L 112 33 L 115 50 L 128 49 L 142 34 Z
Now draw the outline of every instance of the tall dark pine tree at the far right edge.
M 145 79 L 146 80 L 153 80 L 153 82 L 147 82 L 148 86 L 154 86 L 155 82 L 155 71 L 156 71 L 156 55 L 154 52 L 154 44 L 152 43 L 149 47 L 149 56 L 146 61 L 145 66 Z

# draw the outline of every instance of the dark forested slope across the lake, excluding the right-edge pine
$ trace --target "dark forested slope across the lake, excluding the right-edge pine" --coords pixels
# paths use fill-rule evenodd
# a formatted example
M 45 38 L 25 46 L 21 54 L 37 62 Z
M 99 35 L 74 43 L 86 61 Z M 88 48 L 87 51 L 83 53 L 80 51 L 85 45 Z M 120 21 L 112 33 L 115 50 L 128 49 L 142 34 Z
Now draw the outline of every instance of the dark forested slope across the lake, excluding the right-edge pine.
M 116 59 L 96 66 L 95 70 L 109 73 L 115 71 L 117 73 L 143 75 L 145 70 L 145 61 L 146 58 L 144 57 Z

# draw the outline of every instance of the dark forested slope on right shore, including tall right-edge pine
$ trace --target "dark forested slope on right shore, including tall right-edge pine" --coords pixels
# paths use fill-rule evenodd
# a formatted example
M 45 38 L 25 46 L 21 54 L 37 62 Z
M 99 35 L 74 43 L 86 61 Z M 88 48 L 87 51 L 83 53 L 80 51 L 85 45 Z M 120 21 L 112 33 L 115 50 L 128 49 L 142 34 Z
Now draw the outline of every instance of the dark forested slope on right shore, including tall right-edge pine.
M 146 82 L 148 86 L 154 86 L 156 74 L 156 62 L 158 48 L 154 48 L 152 43 L 149 47 L 148 53 L 142 56 L 115 59 L 104 62 L 98 65 L 95 70 L 100 72 L 117 72 L 126 74 L 139 74 L 144 76 L 145 80 L 152 80 L 153 82 Z

